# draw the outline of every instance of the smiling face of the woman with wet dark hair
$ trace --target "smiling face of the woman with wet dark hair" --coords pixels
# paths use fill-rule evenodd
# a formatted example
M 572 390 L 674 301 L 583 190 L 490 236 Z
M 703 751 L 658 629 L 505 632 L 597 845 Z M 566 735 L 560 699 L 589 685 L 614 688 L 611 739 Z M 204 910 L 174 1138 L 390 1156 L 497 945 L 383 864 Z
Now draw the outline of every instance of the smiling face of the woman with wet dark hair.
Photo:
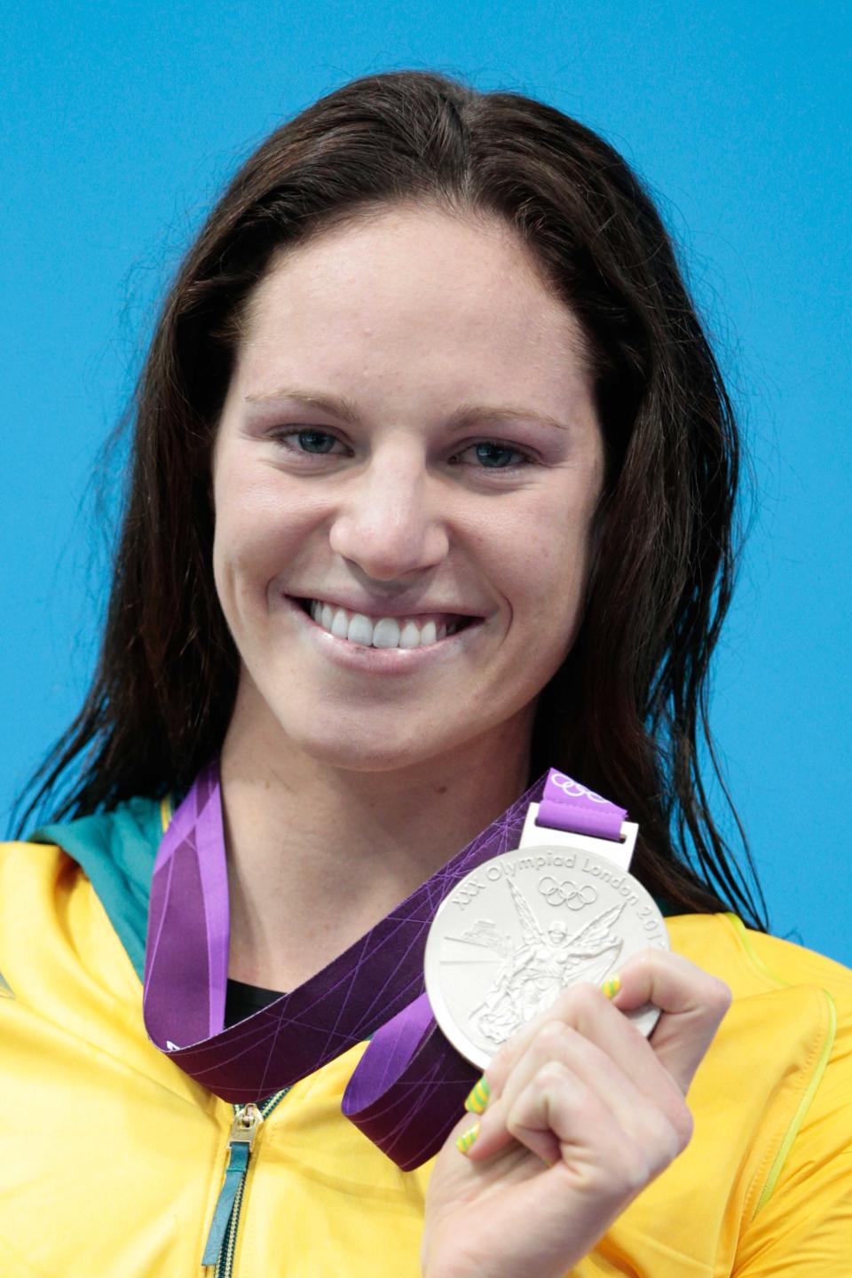
M 502 222 L 395 207 L 278 258 L 213 456 L 232 730 L 359 771 L 525 750 L 602 475 L 579 326 Z

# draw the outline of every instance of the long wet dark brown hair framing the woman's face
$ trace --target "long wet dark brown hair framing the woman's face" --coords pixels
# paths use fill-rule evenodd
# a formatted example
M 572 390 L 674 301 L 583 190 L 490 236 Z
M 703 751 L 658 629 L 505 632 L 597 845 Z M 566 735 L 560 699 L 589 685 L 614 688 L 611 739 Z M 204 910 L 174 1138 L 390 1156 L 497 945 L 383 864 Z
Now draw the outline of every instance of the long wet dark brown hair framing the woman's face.
M 593 357 L 608 463 L 597 564 L 577 642 L 539 700 L 533 771 L 554 764 L 626 805 L 637 873 L 672 907 L 727 900 L 763 927 L 699 754 L 715 767 L 708 672 L 731 598 L 738 442 L 672 244 L 584 125 L 424 72 L 353 81 L 277 129 L 186 254 L 134 395 L 98 666 L 20 828 L 63 783 L 55 818 L 180 792 L 221 748 L 239 662 L 213 585 L 209 458 L 239 320 L 276 250 L 396 202 L 515 227 Z

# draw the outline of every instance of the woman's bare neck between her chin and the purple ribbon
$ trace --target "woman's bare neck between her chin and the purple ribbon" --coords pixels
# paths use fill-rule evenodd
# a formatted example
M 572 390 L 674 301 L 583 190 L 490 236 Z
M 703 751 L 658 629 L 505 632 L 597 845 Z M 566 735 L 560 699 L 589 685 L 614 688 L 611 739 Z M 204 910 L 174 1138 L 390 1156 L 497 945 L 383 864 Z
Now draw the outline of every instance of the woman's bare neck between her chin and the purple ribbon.
M 516 726 L 517 727 L 517 726 Z M 358 941 L 524 791 L 529 732 L 393 772 L 232 723 L 222 750 L 229 976 L 287 990 Z

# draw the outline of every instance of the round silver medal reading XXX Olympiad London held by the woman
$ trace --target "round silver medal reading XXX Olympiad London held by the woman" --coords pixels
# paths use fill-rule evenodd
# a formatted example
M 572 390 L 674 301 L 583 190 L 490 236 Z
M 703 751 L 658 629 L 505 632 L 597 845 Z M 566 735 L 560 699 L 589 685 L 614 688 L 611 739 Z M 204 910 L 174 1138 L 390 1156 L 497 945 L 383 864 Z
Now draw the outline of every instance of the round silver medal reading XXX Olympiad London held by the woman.
M 668 950 L 668 933 L 632 874 L 581 847 L 520 847 L 442 901 L 425 947 L 427 994 L 445 1035 L 484 1070 L 563 989 L 599 985 L 648 947 Z M 648 1035 L 659 1008 L 628 1015 Z

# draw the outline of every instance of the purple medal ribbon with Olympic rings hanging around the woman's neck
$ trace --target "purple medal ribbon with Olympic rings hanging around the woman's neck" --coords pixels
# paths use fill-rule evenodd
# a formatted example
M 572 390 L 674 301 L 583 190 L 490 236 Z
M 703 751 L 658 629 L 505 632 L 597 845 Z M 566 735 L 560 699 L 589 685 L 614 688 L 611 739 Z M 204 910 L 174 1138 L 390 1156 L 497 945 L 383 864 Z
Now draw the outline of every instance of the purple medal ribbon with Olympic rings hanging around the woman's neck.
M 245 1104 L 370 1038 L 342 1112 L 402 1171 L 419 1167 L 438 1151 L 479 1077 L 441 1033 L 424 993 L 429 924 L 465 874 L 519 846 L 526 809 L 539 799 L 540 826 L 620 837 L 622 808 L 551 769 L 327 967 L 225 1029 L 227 863 L 218 763 L 208 764 L 155 860 L 143 996 L 152 1042 L 222 1100 Z

